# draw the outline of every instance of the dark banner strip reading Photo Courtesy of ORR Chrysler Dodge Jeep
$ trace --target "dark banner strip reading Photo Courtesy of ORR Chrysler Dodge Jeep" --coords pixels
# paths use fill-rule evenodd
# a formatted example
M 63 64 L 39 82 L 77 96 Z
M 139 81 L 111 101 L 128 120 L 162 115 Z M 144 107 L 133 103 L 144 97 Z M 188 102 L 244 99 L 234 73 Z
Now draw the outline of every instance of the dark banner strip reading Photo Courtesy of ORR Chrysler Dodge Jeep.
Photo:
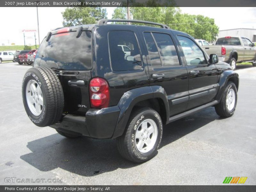
M 252 192 L 256 191 L 256 186 L 249 185 L 228 185 L 228 186 L 33 186 L 33 185 L 14 185 L 0 186 L 1 192 Z

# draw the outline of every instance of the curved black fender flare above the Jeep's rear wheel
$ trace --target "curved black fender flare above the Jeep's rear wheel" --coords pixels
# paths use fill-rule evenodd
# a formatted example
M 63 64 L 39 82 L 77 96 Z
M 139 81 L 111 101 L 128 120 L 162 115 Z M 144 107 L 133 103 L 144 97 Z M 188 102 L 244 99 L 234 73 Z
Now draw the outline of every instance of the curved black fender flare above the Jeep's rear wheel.
M 169 121 L 169 103 L 163 87 L 156 85 L 135 88 L 125 92 L 117 104 L 120 108 L 120 113 L 112 139 L 120 137 L 124 133 L 132 108 L 140 101 L 153 98 L 160 98 L 163 100 L 166 110 L 166 121 Z

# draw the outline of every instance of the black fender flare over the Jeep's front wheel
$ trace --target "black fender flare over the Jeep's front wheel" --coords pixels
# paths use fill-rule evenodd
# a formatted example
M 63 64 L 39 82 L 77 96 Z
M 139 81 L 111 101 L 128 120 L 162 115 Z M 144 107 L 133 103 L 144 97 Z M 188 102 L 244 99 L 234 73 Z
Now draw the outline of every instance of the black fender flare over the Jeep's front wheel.
M 220 80 L 219 80 L 219 92 L 216 96 L 216 100 L 220 101 L 221 100 L 221 97 L 222 97 L 222 94 L 226 88 L 226 85 L 228 83 L 228 80 L 230 78 L 236 78 L 237 79 L 237 90 L 238 90 L 238 86 L 239 86 L 239 75 L 233 71 L 233 70 L 227 70 L 227 71 L 224 71 L 223 73 L 221 73 L 220 75 Z

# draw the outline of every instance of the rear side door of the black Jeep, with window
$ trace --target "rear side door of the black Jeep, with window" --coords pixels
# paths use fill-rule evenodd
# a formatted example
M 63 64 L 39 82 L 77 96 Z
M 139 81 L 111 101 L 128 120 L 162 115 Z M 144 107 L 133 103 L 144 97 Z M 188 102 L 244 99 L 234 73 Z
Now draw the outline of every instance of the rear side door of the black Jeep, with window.
M 186 110 L 188 105 L 188 72 L 179 57 L 171 31 L 139 28 L 147 54 L 150 86 L 159 85 L 168 96 L 170 116 Z M 151 29 L 151 31 L 150 31 Z

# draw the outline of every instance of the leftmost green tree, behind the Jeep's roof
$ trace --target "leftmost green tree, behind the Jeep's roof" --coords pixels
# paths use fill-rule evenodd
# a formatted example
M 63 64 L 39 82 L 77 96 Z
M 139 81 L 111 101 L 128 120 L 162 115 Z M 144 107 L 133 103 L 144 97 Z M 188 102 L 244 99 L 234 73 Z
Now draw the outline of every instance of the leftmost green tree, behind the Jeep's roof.
M 101 7 L 71 7 L 61 12 L 63 26 L 94 24 L 100 19 L 107 19 L 107 11 Z

